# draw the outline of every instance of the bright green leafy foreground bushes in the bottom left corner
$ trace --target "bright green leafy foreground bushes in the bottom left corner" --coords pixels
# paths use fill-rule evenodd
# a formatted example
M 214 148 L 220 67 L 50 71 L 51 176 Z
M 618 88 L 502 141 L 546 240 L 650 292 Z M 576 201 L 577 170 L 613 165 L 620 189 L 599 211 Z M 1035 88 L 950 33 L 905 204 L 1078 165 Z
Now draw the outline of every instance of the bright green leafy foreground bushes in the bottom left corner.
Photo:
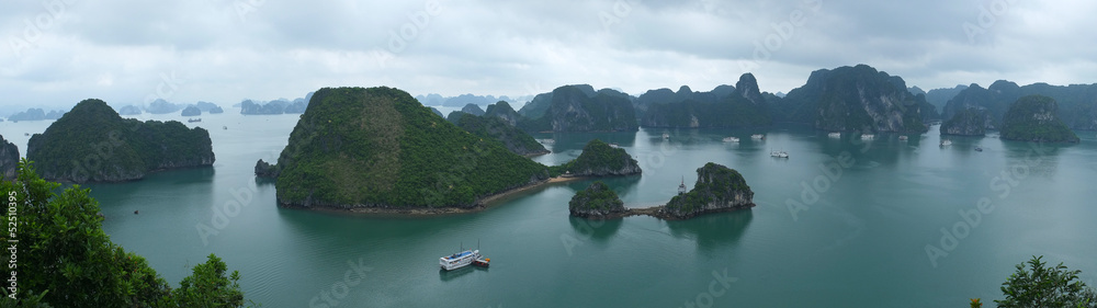
M 58 187 L 38 178 L 26 160 L 16 180 L 0 181 L 0 193 L 18 204 L 22 223 L 13 230 L 19 259 L 11 254 L 5 262 L 19 265 L 12 267 L 19 287 L 14 294 L 3 288 L 0 307 L 244 306 L 240 274 L 228 274 L 216 255 L 172 288 L 145 258 L 111 242 L 90 190 L 73 185 L 57 194 Z

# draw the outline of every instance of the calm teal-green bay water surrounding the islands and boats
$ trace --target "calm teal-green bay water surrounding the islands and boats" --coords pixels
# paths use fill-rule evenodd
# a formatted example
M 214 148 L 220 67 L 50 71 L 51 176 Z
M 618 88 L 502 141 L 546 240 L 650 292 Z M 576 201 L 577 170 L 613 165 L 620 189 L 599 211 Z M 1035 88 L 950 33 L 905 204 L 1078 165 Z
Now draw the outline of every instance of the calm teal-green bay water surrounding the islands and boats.
M 539 135 L 556 140 L 535 158 L 544 163 L 573 159 L 591 138 L 636 157 L 643 176 L 604 180 L 627 206 L 665 203 L 709 161 L 742 172 L 758 206 L 687 221 L 569 218 L 584 181 L 482 213 L 402 218 L 278 208 L 253 167 L 276 157 L 297 115 L 236 112 L 188 124 L 210 129 L 212 168 L 86 186 L 112 240 L 169 282 L 216 253 L 265 307 L 963 307 L 1000 298 L 1031 255 L 1097 285 L 1092 132 L 1037 149 L 994 137 L 942 148 L 936 133 L 862 142 L 803 127 Z M 25 156 L 23 133 L 46 126 L 4 122 L 0 134 Z M 765 140 L 749 138 L 759 133 Z M 439 272 L 438 258 L 477 243 L 489 270 Z

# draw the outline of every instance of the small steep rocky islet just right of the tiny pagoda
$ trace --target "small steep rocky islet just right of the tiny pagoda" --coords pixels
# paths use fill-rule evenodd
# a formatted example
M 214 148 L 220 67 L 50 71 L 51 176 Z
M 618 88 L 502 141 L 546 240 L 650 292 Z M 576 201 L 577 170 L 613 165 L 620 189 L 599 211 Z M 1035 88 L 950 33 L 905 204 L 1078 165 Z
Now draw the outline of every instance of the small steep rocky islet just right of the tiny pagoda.
M 754 192 L 738 171 L 709 162 L 697 170 L 697 183 L 688 193 L 675 196 L 659 209 L 671 219 L 687 219 L 705 213 L 750 208 Z

